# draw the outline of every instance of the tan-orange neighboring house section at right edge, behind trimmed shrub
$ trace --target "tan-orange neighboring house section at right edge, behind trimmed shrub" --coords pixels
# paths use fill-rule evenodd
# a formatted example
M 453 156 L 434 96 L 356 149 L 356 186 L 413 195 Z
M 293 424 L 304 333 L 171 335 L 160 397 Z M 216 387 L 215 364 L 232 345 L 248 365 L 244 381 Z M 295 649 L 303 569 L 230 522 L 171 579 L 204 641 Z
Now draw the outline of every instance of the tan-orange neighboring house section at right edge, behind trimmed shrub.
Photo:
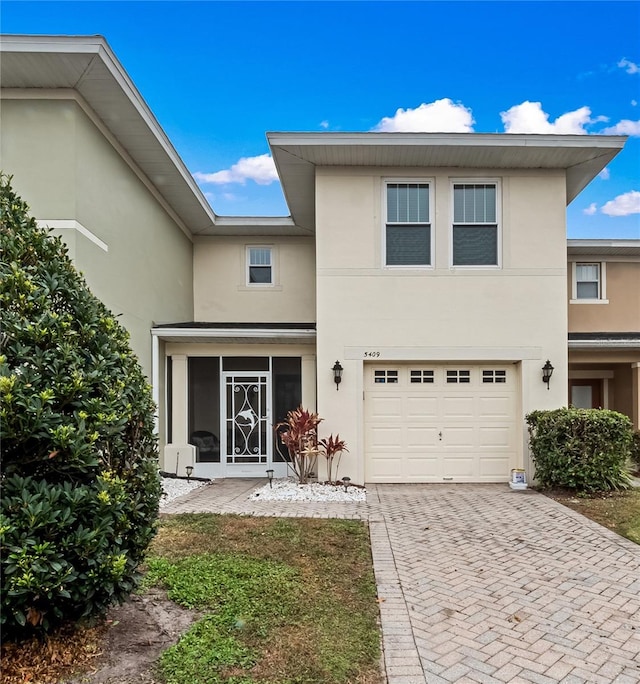
M 640 240 L 569 240 L 569 402 L 640 427 Z

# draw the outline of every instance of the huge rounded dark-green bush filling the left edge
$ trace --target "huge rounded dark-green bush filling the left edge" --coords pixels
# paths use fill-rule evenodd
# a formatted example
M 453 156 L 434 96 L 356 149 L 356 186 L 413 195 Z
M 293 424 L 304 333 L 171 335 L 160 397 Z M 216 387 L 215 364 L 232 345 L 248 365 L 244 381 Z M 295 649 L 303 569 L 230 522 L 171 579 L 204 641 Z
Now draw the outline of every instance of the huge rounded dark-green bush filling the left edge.
M 161 486 L 127 332 L 1 174 L 0 249 L 0 620 L 13 639 L 129 595 Z

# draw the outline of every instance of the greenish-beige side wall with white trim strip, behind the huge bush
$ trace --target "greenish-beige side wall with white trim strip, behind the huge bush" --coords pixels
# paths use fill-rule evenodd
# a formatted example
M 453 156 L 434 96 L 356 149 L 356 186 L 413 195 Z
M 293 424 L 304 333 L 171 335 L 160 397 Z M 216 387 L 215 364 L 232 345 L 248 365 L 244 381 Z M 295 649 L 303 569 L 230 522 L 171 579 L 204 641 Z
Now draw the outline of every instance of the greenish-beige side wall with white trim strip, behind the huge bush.
M 151 376 L 150 329 L 193 318 L 192 244 L 74 99 L 5 99 L 2 169 L 56 227 Z

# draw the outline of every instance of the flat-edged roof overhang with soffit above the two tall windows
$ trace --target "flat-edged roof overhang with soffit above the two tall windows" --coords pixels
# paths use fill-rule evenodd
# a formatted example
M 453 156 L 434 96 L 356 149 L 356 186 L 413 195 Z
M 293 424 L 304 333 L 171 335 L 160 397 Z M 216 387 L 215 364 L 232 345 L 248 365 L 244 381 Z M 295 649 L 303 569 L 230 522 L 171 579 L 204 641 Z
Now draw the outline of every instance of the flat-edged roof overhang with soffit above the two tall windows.
M 315 227 L 317 166 L 558 169 L 569 204 L 620 152 L 626 136 L 511 133 L 268 133 L 296 223 Z

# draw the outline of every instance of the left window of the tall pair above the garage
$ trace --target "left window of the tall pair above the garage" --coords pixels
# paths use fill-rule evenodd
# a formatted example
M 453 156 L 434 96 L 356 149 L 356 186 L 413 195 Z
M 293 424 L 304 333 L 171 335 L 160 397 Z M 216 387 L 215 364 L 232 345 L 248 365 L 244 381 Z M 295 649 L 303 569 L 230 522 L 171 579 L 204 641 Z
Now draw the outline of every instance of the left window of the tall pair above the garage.
M 386 266 L 431 266 L 429 183 L 387 183 Z

